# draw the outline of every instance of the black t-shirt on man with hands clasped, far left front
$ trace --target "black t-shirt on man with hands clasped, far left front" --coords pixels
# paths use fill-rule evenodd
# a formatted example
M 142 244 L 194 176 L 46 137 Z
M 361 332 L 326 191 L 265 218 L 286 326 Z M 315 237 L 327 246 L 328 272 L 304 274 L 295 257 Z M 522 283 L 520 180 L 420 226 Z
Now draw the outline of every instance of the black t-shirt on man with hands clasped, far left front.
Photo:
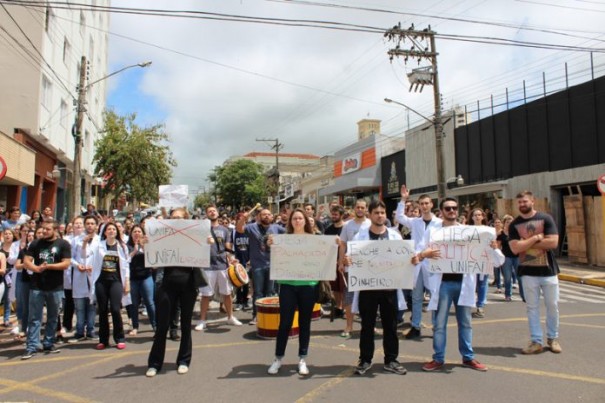
M 71 259 L 71 245 L 64 239 L 54 241 L 36 239 L 27 248 L 25 255 L 34 259 L 36 266 L 61 263 L 63 259 Z M 60 291 L 63 289 L 63 270 L 44 270 L 31 276 L 31 288 L 41 291 Z

